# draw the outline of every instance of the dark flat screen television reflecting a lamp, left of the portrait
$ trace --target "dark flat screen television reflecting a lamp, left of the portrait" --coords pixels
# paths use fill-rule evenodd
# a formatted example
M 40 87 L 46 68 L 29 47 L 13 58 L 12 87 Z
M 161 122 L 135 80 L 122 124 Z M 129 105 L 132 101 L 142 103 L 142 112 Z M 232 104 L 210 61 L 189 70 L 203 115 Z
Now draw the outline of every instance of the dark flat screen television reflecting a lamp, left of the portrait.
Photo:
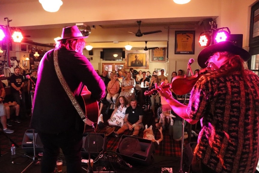
M 104 48 L 103 60 L 106 61 L 121 61 L 122 60 L 122 48 Z

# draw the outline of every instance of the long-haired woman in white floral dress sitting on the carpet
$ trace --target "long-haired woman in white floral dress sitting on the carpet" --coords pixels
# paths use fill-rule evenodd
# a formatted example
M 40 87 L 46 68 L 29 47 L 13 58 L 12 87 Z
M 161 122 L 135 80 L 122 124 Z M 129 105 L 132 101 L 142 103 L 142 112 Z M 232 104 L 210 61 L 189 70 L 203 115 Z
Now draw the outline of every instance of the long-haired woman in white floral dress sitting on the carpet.
M 128 101 L 124 96 L 120 96 L 116 103 L 115 109 L 111 114 L 110 119 L 108 119 L 108 124 L 111 126 L 121 127 L 124 124 L 125 112 L 128 107 Z

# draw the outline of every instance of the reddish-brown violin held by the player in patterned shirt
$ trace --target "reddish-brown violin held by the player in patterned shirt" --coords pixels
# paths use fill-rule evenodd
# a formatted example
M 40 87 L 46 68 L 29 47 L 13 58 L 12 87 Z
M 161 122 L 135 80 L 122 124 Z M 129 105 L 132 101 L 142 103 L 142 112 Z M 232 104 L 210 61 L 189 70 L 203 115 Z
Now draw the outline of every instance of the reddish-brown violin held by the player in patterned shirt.
M 164 86 L 162 86 L 162 88 L 171 88 L 173 90 L 173 92 L 177 95 L 184 95 L 189 93 L 194 84 L 198 81 L 198 79 L 203 76 L 206 73 L 212 72 L 214 70 L 212 70 L 212 68 L 210 67 L 206 67 L 204 69 L 201 69 L 198 73 L 196 73 L 193 76 L 186 76 L 186 75 L 179 75 L 179 76 L 175 76 L 172 80 L 171 84 L 166 84 Z M 158 88 L 153 88 L 149 91 L 145 91 L 144 95 L 151 95 L 153 94 L 155 91 L 157 91 Z

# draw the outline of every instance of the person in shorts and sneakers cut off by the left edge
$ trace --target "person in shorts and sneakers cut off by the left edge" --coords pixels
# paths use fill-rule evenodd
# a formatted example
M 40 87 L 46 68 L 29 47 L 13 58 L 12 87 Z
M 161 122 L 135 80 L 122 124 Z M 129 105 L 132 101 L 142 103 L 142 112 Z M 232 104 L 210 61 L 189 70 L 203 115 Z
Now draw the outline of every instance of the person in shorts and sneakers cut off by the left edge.
M 7 128 L 7 119 L 9 119 L 8 121 L 10 121 L 10 116 L 6 116 L 5 114 L 5 105 L 2 102 L 4 97 L 5 97 L 5 88 L 2 84 L 2 81 L 0 80 L 0 121 L 3 126 L 3 131 L 5 133 L 14 133 L 13 130 L 10 130 L 9 128 Z M 9 124 L 9 126 L 11 126 L 11 124 Z

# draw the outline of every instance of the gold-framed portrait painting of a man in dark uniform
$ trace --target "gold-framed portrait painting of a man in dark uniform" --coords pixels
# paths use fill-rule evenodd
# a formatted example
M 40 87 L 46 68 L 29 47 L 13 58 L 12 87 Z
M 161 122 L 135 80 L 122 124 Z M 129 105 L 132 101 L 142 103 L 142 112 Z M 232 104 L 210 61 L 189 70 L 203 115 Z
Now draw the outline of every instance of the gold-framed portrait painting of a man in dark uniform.
M 149 51 L 125 51 L 126 69 L 148 69 Z

